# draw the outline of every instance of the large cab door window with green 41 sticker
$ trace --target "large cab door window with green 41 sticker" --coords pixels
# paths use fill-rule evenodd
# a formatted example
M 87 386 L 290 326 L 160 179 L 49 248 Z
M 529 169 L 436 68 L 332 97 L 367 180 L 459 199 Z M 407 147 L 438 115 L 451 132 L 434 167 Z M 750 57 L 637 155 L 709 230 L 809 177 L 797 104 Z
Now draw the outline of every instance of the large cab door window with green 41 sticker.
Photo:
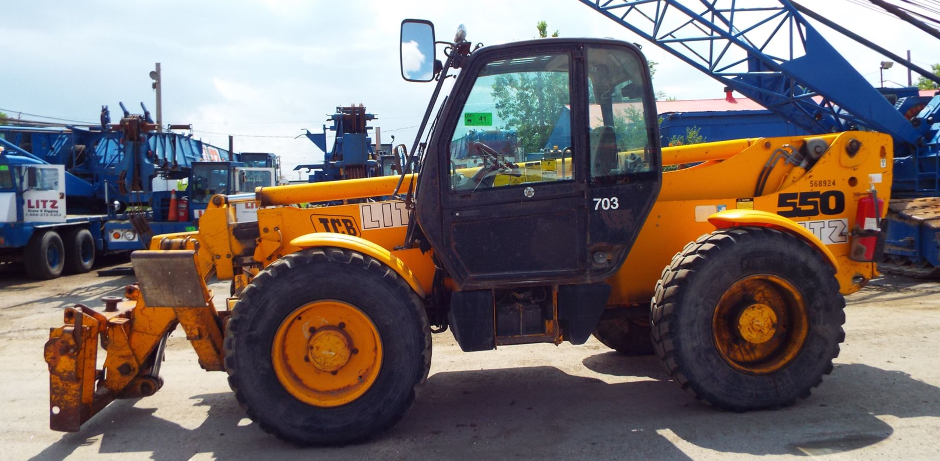
M 451 192 L 572 179 L 567 53 L 487 63 L 450 138 Z

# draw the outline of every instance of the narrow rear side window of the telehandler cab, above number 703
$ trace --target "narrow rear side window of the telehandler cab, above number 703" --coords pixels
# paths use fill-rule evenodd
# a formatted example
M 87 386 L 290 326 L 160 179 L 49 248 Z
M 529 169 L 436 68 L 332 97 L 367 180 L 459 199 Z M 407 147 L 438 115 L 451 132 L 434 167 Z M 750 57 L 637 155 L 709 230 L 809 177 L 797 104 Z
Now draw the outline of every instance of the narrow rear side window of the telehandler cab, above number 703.
M 650 144 L 646 110 L 650 92 L 639 55 L 622 48 L 587 47 L 587 123 L 590 133 L 590 177 L 617 182 L 658 168 Z

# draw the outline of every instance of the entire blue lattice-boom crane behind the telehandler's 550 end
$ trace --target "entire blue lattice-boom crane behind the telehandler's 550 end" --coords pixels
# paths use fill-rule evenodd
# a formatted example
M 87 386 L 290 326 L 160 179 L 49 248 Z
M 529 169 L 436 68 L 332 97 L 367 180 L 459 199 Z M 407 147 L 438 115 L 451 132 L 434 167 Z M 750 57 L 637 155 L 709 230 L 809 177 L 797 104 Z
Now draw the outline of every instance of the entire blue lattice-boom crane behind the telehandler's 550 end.
M 940 276 L 940 96 L 888 100 L 804 14 L 938 84 L 940 77 L 789 0 L 579 1 L 801 130 L 890 134 L 894 200 L 885 254 L 893 264 L 886 267 Z

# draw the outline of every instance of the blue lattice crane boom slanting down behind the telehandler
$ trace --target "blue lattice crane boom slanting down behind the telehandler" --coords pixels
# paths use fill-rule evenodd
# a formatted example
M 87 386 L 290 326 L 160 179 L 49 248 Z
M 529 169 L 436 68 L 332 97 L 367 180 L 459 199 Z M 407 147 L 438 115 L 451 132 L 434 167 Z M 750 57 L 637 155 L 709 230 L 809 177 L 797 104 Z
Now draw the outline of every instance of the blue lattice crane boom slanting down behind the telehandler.
M 760 7 L 731 0 L 727 8 L 708 0 L 580 1 L 804 130 L 864 126 L 923 143 L 789 0 Z

